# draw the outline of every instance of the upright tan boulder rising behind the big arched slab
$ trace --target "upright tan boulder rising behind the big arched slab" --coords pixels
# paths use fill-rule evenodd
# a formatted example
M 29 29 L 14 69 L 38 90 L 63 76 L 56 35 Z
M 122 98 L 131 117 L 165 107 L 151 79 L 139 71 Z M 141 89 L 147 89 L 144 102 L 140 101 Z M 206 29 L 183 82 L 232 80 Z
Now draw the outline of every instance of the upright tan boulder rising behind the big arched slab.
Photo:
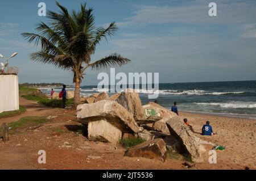
M 118 96 L 116 101 L 124 108 L 126 108 L 127 111 L 133 114 L 135 121 L 141 121 L 145 119 L 141 99 L 135 90 L 126 89 Z

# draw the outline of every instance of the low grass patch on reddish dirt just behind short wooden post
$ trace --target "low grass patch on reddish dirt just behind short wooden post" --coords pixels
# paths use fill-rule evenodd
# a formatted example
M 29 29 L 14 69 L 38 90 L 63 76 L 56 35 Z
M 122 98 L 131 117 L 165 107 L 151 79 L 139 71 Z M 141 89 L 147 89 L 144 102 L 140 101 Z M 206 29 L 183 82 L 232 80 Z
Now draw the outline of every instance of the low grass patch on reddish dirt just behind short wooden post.
M 10 132 L 13 132 L 16 129 L 34 127 L 36 125 L 47 123 L 48 121 L 49 120 L 47 120 L 46 117 L 27 116 L 27 117 L 22 117 L 16 122 L 9 123 L 8 127 L 10 129 Z

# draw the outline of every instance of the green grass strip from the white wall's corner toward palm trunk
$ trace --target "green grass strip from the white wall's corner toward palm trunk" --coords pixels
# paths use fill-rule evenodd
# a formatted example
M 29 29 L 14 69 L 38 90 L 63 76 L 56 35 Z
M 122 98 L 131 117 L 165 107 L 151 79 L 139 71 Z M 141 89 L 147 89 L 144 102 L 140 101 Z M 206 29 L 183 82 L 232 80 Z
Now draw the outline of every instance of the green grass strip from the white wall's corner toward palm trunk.
M 30 87 L 19 87 L 20 95 L 27 100 L 34 100 L 39 104 L 43 104 L 47 107 L 61 107 L 62 100 L 48 99 L 41 91 L 30 88 Z M 73 105 L 73 99 L 68 99 L 66 101 L 66 106 L 70 107 Z

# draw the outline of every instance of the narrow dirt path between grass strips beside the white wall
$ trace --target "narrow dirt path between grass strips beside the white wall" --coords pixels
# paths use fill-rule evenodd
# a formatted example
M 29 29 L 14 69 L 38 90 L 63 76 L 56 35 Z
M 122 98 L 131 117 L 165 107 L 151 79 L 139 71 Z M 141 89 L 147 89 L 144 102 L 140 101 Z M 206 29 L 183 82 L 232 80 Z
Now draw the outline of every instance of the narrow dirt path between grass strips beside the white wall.
M 2 125 L 2 123 L 18 121 L 20 118 L 26 116 L 51 116 L 62 110 L 61 108 L 49 108 L 24 98 L 19 98 L 19 104 L 20 106 L 26 108 L 27 111 L 21 113 L 20 115 L 0 118 L 0 125 Z

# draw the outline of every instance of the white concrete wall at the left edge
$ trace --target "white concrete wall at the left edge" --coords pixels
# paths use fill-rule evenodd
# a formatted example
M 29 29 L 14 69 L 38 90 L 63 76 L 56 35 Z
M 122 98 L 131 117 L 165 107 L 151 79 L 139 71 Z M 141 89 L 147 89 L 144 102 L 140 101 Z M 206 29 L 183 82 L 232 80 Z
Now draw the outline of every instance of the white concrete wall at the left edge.
M 19 110 L 18 75 L 0 75 L 0 113 Z

